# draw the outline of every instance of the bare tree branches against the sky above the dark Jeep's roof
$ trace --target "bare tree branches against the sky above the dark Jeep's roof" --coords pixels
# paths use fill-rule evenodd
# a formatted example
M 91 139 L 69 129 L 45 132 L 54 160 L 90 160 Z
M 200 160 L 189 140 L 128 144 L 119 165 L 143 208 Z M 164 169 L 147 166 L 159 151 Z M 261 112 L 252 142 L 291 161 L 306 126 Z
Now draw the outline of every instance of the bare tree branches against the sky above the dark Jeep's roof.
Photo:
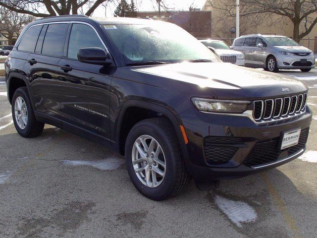
M 0 6 L 36 17 L 78 14 L 78 12 L 90 16 L 105 1 L 110 0 L 0 0 Z

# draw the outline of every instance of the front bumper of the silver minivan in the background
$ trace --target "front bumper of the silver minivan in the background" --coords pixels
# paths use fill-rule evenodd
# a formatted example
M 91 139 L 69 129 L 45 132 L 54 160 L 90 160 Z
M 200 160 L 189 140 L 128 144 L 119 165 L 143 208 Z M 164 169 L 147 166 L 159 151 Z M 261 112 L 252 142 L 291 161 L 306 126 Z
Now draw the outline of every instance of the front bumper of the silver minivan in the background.
M 302 64 L 301 60 L 307 60 L 307 64 Z M 277 67 L 280 69 L 301 69 L 301 68 L 314 68 L 315 56 L 283 56 L 280 55 L 276 58 Z

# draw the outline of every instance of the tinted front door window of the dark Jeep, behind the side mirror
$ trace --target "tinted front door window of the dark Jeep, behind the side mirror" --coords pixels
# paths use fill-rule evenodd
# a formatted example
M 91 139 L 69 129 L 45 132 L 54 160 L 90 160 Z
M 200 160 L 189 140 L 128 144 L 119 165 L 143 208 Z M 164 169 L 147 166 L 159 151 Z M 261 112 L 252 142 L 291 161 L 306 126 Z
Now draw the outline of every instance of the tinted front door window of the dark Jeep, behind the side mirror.
M 79 49 L 85 47 L 99 47 L 106 50 L 93 28 L 85 24 L 73 24 L 69 36 L 67 57 L 77 59 Z

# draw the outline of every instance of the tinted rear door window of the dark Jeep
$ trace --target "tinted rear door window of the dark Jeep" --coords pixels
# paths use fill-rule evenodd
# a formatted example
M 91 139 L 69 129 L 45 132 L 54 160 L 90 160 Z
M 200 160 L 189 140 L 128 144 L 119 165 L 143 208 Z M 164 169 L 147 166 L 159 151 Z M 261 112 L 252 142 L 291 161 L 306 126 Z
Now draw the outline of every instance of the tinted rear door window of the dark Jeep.
M 62 56 L 66 33 L 67 23 L 50 24 L 45 34 L 42 54 L 49 56 Z

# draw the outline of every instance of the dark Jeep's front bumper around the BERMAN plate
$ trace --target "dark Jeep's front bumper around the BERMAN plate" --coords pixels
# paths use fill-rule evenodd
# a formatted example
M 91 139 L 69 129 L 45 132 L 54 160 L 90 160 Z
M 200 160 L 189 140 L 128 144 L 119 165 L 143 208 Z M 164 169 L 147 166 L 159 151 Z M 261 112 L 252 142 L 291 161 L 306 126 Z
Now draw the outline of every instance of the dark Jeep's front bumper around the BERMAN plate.
M 312 120 L 308 107 L 298 117 L 265 124 L 256 124 L 246 117 L 205 114 L 196 108 L 179 116 L 189 140 L 187 169 L 194 179 L 200 180 L 239 178 L 301 156 Z M 280 151 L 281 133 L 294 128 L 306 133 L 301 135 L 301 143 Z

